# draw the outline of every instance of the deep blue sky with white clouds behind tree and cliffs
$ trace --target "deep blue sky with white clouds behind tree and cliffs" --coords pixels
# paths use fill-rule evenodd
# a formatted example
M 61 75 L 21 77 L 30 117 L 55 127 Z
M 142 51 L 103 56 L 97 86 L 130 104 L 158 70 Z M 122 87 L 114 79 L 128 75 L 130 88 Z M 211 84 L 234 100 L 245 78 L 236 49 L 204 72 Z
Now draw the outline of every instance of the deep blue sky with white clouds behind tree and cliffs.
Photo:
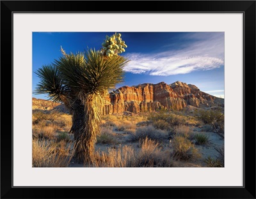
M 124 68 L 123 85 L 143 83 L 172 84 L 180 81 L 196 85 L 201 91 L 224 98 L 224 33 L 223 32 L 117 32 L 127 44 L 121 55 L 128 57 Z M 100 50 L 106 35 L 97 33 L 33 33 L 32 91 L 39 79 L 35 71 L 65 52 L 83 52 L 87 48 Z M 34 98 L 48 99 L 47 94 L 33 94 Z

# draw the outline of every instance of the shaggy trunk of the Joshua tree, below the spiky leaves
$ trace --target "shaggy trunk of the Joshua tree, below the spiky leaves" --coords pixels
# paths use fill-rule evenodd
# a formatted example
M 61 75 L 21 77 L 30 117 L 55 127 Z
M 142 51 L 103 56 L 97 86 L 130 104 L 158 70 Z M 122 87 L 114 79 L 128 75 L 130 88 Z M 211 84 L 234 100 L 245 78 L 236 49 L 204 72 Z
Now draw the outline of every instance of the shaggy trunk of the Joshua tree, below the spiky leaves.
M 83 100 L 74 103 L 71 132 L 75 139 L 75 158 L 81 163 L 91 163 L 93 160 L 96 136 L 100 123 L 100 95 L 88 94 Z

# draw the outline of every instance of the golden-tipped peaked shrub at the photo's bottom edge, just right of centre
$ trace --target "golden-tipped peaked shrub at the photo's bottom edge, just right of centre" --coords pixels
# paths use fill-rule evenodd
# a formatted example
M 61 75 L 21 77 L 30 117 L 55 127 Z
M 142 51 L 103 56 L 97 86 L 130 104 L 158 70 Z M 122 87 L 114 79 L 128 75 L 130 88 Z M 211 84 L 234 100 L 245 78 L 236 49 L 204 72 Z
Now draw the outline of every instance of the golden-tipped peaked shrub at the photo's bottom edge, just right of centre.
M 140 140 L 141 150 L 136 154 L 134 161 L 135 167 L 170 167 L 172 161 L 170 155 L 161 151 L 156 140 L 145 138 Z

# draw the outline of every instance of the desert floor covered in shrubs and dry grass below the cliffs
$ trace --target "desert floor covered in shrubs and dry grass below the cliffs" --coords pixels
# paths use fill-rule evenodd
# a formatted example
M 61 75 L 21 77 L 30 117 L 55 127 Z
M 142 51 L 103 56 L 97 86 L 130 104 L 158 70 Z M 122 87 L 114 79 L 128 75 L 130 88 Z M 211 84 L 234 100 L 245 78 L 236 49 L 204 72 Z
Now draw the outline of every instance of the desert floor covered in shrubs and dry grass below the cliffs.
M 90 165 L 72 158 L 71 126 L 69 114 L 33 110 L 33 166 L 224 166 L 224 133 L 215 133 L 195 110 L 105 115 L 95 144 L 95 163 Z

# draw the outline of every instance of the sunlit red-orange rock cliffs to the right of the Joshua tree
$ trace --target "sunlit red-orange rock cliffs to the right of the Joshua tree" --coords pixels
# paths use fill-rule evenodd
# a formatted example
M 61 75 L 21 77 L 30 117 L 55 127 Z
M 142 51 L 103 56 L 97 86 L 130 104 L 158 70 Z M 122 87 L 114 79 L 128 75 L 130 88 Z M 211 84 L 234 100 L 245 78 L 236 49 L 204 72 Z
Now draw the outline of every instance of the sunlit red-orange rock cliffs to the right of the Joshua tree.
M 164 82 L 132 87 L 126 85 L 106 94 L 102 114 L 138 114 L 159 109 L 182 110 L 188 105 L 204 108 L 216 103 L 223 107 L 224 99 L 202 92 L 195 85 L 179 81 L 170 85 Z

